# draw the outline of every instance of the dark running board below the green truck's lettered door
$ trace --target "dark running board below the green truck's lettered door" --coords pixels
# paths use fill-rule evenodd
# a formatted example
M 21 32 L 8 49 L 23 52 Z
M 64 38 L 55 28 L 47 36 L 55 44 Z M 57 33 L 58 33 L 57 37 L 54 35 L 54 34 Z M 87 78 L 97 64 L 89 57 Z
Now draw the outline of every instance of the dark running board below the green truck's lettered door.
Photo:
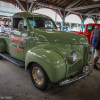
M 11 57 L 10 54 L 8 54 L 8 53 L 0 53 L 0 56 L 3 57 L 4 59 L 9 60 L 10 62 L 14 63 L 15 65 L 17 65 L 19 67 L 23 67 L 23 68 L 25 67 L 24 62 Z

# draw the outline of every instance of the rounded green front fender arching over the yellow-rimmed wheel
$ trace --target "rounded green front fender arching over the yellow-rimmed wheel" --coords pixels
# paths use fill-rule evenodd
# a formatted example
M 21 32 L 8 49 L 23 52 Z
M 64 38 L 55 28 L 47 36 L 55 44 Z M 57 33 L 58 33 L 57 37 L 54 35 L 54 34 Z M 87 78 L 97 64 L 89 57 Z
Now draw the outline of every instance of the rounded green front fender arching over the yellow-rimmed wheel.
M 31 62 L 40 64 L 46 71 L 51 82 L 58 82 L 65 77 L 65 61 L 60 54 L 53 50 L 44 48 L 33 48 L 29 50 L 25 58 L 25 71 Z

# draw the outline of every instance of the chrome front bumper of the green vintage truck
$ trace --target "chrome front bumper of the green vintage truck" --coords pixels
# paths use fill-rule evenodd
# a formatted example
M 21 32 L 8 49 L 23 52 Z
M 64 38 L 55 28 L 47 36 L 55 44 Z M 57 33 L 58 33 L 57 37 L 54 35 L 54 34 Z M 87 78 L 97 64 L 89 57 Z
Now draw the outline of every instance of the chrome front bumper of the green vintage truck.
M 84 78 L 85 76 L 87 76 L 87 75 L 89 75 L 90 73 L 92 73 L 92 70 L 93 70 L 93 65 L 92 65 L 92 63 L 89 63 L 88 66 L 85 66 L 85 67 L 83 68 L 83 73 L 82 73 L 82 74 L 80 74 L 79 76 L 76 76 L 76 77 L 74 77 L 74 78 L 72 78 L 72 79 L 65 79 L 65 80 L 61 81 L 61 82 L 59 83 L 59 85 L 60 85 L 60 86 L 63 86 L 63 85 L 66 85 L 66 84 L 75 82 L 75 81 L 77 81 L 77 80 L 79 80 L 79 79 L 81 79 L 81 78 Z

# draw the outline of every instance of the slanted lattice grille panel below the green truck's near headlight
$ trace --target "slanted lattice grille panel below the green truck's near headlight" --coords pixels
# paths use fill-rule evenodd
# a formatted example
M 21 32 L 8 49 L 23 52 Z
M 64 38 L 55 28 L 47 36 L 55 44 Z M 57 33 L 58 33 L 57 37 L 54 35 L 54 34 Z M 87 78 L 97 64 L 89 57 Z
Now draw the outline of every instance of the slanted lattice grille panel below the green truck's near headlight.
M 82 69 L 82 59 L 69 67 L 68 74 L 76 72 Z

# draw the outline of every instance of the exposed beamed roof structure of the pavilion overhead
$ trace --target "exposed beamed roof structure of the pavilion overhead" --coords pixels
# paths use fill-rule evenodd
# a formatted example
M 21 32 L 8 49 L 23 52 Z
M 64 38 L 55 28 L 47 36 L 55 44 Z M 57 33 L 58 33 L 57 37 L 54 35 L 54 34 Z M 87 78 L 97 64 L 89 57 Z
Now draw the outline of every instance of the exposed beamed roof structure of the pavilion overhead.
M 3 2 L 12 3 L 18 6 L 23 11 L 28 12 L 35 9 L 50 8 L 57 12 L 63 19 L 69 14 L 76 14 L 82 20 L 83 18 L 91 17 L 93 19 L 100 19 L 100 0 L 0 0 Z

